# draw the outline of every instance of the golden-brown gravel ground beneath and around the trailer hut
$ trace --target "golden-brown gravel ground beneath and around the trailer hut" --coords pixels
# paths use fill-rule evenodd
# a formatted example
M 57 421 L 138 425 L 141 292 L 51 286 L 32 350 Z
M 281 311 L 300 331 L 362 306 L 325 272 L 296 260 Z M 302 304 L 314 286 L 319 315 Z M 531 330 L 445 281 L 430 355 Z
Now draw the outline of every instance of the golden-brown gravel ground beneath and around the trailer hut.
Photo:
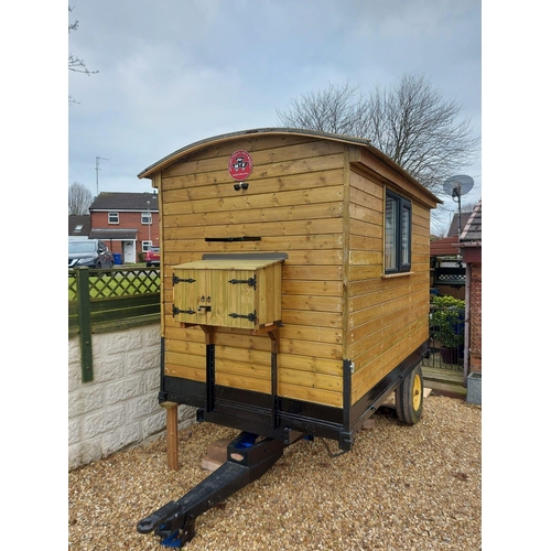
M 431 395 L 414 426 L 389 410 L 356 434 L 349 453 L 316 439 L 285 449 L 260 479 L 199 516 L 193 550 L 479 550 L 482 409 Z M 209 423 L 180 432 L 181 468 L 166 439 L 68 474 L 69 550 L 161 550 L 139 520 L 192 489 L 208 472 L 207 445 L 238 431 Z

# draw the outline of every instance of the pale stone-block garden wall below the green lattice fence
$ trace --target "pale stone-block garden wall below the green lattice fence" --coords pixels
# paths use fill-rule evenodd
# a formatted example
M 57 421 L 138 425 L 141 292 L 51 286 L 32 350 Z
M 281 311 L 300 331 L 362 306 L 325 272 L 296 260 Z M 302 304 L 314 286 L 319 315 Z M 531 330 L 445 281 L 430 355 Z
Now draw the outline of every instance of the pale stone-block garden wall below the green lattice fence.
M 93 335 L 94 380 L 82 382 L 78 337 L 68 341 L 68 468 L 163 436 L 166 410 L 159 406 L 160 325 Z M 179 407 L 179 428 L 195 422 L 195 409 Z

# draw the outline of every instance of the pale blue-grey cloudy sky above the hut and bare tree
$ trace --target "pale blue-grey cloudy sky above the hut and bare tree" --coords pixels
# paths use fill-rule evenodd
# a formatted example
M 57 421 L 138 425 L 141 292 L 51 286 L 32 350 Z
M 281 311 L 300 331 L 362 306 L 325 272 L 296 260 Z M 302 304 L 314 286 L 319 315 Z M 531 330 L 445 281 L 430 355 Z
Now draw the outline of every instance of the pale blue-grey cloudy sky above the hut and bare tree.
M 480 0 L 94 0 L 71 4 L 68 185 L 150 191 L 137 174 L 220 133 L 281 126 L 331 84 L 364 95 L 424 75 L 480 136 Z M 102 158 L 96 161 L 96 158 Z M 97 162 L 97 164 L 96 164 Z M 96 171 L 96 166 L 99 169 Z M 480 159 L 466 173 L 480 197 Z

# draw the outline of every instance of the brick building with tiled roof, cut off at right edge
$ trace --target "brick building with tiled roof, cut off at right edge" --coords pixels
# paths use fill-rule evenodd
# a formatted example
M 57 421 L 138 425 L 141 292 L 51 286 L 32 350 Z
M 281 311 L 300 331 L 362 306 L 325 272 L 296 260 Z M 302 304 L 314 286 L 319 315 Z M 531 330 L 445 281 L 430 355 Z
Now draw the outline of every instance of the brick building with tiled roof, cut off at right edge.
M 460 236 L 460 253 L 466 264 L 466 370 L 482 372 L 482 199 L 476 204 Z

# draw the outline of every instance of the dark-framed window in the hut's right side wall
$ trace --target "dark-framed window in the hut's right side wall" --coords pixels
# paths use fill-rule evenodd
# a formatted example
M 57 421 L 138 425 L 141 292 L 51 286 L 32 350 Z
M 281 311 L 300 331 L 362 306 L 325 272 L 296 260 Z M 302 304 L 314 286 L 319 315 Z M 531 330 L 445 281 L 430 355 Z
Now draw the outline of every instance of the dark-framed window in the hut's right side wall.
M 411 270 L 411 201 L 387 190 L 385 197 L 385 273 Z

